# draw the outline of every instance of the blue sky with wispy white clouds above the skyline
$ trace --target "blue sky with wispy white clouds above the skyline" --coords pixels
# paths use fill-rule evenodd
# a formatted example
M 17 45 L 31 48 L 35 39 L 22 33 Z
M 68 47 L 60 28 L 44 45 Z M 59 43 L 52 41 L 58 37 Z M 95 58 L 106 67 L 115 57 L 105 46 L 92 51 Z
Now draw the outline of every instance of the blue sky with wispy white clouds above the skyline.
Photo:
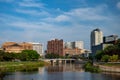
M 99 28 L 120 36 L 120 0 L 0 0 L 0 44 L 51 39 L 84 41 Z

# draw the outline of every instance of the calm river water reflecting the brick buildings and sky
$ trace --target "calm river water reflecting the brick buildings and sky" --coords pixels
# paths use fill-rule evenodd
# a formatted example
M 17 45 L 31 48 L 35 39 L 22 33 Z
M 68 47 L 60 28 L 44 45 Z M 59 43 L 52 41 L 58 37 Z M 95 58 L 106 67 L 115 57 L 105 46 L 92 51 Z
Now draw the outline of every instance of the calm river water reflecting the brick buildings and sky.
M 31 72 L 8 72 L 0 80 L 120 80 L 120 73 L 90 73 L 84 72 L 81 65 L 66 64 Z

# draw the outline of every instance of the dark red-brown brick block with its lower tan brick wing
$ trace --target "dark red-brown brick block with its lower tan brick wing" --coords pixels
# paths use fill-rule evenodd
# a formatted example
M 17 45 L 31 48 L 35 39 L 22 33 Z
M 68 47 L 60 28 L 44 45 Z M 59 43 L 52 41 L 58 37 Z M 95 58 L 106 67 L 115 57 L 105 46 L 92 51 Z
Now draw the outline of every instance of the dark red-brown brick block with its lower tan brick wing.
M 84 53 L 84 49 L 80 49 L 78 47 L 65 47 L 67 44 L 63 42 L 63 40 L 51 40 L 47 43 L 47 51 L 46 53 L 51 54 L 59 54 L 61 56 L 66 55 L 80 55 Z

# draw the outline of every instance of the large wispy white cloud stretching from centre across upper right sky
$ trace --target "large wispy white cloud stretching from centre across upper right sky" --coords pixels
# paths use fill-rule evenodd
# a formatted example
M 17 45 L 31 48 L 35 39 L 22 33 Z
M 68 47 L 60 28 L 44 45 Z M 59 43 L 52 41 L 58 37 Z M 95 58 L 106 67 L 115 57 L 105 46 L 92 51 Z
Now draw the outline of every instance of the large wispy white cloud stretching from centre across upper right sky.
M 76 8 L 70 11 L 61 11 L 61 14 L 56 17 L 47 17 L 42 19 L 45 22 L 49 23 L 62 23 L 70 22 L 72 24 L 79 23 L 81 21 L 109 21 L 111 20 L 111 15 L 105 15 L 104 11 L 106 5 L 100 5 L 97 7 L 87 7 L 87 8 Z

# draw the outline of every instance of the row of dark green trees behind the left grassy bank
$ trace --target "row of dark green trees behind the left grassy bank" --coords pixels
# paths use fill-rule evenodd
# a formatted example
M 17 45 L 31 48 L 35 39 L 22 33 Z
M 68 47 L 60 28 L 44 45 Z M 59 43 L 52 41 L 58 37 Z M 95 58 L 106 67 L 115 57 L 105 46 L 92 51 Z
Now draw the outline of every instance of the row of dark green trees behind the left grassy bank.
M 0 51 L 0 61 L 32 61 L 38 60 L 40 55 L 34 50 L 23 50 L 21 53 Z

